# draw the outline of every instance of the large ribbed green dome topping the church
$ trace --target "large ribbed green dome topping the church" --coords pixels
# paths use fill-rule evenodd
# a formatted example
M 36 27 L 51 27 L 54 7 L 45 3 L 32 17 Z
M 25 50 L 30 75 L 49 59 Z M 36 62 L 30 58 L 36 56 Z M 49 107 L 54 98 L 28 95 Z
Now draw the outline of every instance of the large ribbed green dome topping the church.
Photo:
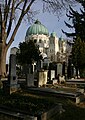
M 40 21 L 36 20 L 36 22 L 28 28 L 26 36 L 29 36 L 32 34 L 33 35 L 35 35 L 35 34 L 49 35 L 49 32 L 48 32 L 47 28 L 41 24 Z

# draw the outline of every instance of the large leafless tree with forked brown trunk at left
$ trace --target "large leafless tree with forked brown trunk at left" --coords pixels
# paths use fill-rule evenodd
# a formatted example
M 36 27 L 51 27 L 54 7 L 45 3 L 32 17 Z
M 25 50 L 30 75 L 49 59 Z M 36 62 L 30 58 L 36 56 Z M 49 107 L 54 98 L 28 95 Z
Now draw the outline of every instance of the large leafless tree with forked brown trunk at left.
M 39 0 L 0 0 L 0 75 L 6 73 L 6 54 L 14 41 L 23 18 L 32 17 L 31 7 Z M 74 4 L 75 0 L 41 0 L 43 9 L 47 12 L 58 13 Z M 18 13 L 18 15 L 17 15 Z M 16 25 L 13 27 L 14 20 Z

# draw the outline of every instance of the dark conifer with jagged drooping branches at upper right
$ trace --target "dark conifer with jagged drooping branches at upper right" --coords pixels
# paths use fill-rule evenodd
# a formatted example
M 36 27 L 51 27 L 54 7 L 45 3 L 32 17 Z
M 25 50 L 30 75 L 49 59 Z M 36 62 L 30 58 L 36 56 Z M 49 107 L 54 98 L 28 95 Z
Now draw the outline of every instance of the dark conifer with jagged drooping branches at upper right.
M 67 17 L 69 20 L 72 20 L 72 25 L 65 22 L 66 26 L 70 29 L 74 29 L 74 32 L 68 33 L 63 31 L 67 37 L 73 37 L 76 39 L 77 36 L 81 38 L 81 40 L 85 41 L 85 0 L 77 0 L 81 4 L 80 12 L 73 10 L 70 7 L 69 15 Z

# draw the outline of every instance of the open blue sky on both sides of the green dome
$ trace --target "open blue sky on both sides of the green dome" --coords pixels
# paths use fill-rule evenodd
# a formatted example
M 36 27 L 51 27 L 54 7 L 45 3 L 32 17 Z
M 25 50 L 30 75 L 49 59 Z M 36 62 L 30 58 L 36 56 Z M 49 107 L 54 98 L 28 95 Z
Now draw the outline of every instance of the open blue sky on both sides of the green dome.
M 42 12 L 42 6 L 40 2 L 36 4 L 35 6 L 32 6 L 32 9 L 34 10 L 40 10 L 39 14 L 35 16 L 35 20 L 38 19 L 46 28 L 48 29 L 49 33 L 56 32 L 58 37 L 66 38 L 65 34 L 62 33 L 61 29 L 70 32 L 70 29 L 68 29 L 64 23 L 64 21 L 68 22 L 68 18 L 66 17 L 66 12 L 62 12 L 62 16 L 58 17 L 57 15 L 50 14 L 50 13 L 43 13 Z M 33 24 L 33 23 L 31 23 Z M 27 29 L 30 27 L 29 23 L 23 21 L 21 26 L 19 27 L 19 30 L 15 36 L 15 40 L 12 43 L 11 47 L 18 47 L 20 42 L 23 42 L 25 40 L 25 35 Z M 7 63 L 9 58 L 10 49 L 7 54 Z

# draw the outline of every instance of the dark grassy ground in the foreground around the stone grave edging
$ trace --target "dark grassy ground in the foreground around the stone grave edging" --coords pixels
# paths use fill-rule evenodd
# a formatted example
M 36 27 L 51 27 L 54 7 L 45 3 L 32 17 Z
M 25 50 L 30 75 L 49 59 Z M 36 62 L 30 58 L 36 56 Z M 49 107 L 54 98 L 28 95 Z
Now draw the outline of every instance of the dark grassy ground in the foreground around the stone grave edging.
M 52 95 L 43 96 L 42 94 L 34 94 L 28 90 L 20 90 L 11 95 L 4 94 L 0 90 L 0 108 L 8 111 L 23 112 L 25 114 L 34 115 L 45 112 L 55 107 L 58 103 L 62 104 L 63 111 L 58 112 L 49 120 L 85 120 L 85 103 L 75 104 L 68 98 L 55 97 Z M 0 120 L 20 120 L 0 113 Z

